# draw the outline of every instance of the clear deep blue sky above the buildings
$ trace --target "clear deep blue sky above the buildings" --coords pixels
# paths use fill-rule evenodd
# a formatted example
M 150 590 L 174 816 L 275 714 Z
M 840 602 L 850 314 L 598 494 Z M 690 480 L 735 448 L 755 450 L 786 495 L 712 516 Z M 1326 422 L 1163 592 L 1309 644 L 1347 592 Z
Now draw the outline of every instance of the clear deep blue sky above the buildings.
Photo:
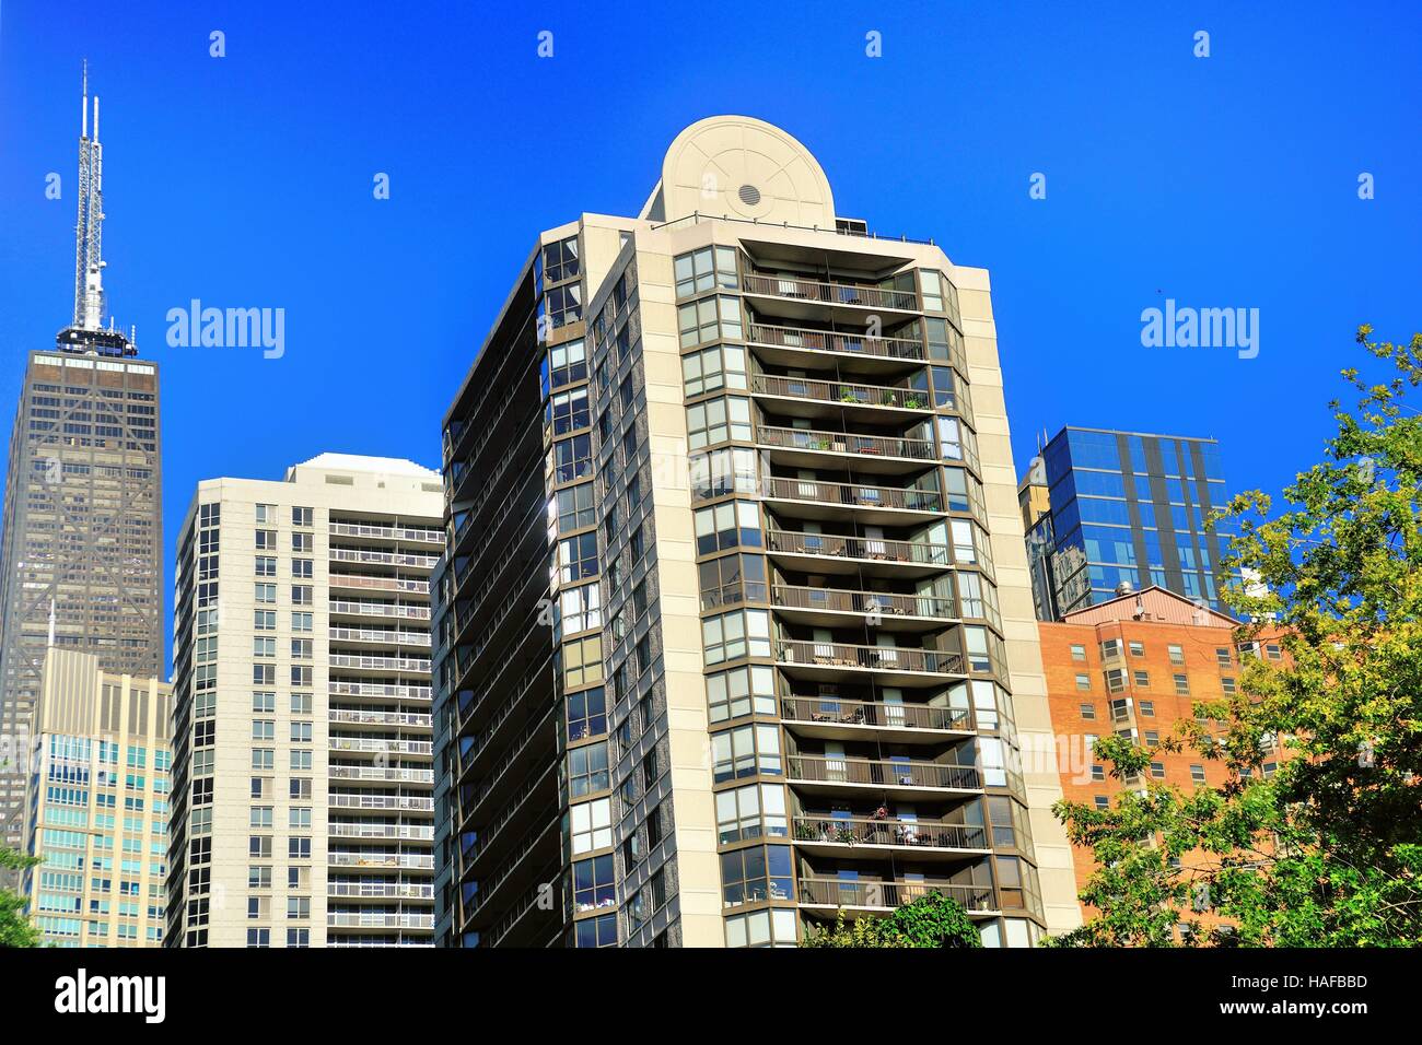
M 437 466 L 533 235 L 634 213 L 718 112 L 796 135 L 842 213 L 991 270 L 1020 468 L 1069 422 L 1213 435 L 1231 486 L 1278 489 L 1355 326 L 1422 328 L 1418 3 L 516 7 L 0 0 L 0 409 L 70 314 L 88 57 L 111 311 L 164 367 L 165 584 L 202 478 Z M 193 297 L 286 309 L 286 357 L 168 348 Z M 1258 357 L 1142 348 L 1166 297 L 1260 309 Z

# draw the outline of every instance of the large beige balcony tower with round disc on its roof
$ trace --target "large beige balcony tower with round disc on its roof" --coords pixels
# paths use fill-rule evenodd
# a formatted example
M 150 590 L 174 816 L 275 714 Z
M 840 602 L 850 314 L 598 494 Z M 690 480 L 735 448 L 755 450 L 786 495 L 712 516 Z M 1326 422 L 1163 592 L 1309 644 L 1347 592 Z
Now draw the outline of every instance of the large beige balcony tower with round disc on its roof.
M 1078 924 L 985 270 L 702 119 L 538 237 L 444 465 L 441 944 Z

